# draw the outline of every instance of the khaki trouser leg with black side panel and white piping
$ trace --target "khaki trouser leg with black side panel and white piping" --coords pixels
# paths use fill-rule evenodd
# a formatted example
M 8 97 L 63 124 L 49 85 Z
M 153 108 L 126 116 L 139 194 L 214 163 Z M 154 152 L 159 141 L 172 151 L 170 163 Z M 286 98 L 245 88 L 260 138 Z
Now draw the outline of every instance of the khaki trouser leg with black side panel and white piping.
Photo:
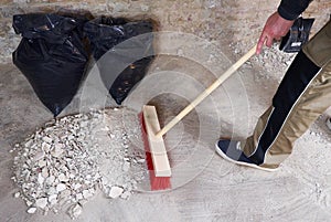
M 295 141 L 331 106 L 331 22 L 302 49 L 260 116 L 244 154 L 256 163 L 276 168 Z

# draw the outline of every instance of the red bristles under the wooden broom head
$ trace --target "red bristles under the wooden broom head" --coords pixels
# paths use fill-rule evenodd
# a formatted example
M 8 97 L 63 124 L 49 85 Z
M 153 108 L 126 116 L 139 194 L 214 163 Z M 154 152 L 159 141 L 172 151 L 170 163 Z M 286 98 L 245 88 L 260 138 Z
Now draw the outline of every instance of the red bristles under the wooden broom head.
M 147 169 L 149 171 L 150 188 L 151 190 L 171 189 L 170 177 L 156 177 L 142 112 L 138 114 L 138 117 L 141 125 L 141 135 L 143 140 L 145 152 L 146 152 Z

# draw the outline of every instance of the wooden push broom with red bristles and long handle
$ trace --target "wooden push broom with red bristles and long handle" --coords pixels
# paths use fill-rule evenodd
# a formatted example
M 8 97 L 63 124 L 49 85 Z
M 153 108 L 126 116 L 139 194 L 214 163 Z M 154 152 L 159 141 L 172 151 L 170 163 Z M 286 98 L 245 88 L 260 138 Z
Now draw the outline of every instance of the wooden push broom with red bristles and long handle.
M 157 110 L 154 106 L 145 105 L 142 113 L 139 114 L 141 124 L 142 139 L 146 151 L 146 162 L 150 176 L 151 190 L 171 189 L 171 168 L 167 155 L 164 140 L 162 136 L 167 134 L 174 125 L 184 118 L 195 108 L 204 98 L 214 92 L 224 81 L 226 81 L 235 71 L 237 71 L 256 52 L 256 45 L 252 47 L 243 57 L 233 64 L 223 75 L 221 75 L 209 88 L 200 94 L 191 104 L 179 113 L 162 129 L 160 128 Z

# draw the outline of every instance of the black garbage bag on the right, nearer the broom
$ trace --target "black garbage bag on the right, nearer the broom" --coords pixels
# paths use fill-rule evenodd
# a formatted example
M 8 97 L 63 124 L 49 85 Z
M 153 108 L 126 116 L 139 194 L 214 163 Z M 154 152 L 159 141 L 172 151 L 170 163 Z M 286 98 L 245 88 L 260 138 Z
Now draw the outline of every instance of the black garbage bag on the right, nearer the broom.
M 152 20 L 129 21 L 107 17 L 84 25 L 104 85 L 118 105 L 143 78 L 154 59 L 153 29 Z

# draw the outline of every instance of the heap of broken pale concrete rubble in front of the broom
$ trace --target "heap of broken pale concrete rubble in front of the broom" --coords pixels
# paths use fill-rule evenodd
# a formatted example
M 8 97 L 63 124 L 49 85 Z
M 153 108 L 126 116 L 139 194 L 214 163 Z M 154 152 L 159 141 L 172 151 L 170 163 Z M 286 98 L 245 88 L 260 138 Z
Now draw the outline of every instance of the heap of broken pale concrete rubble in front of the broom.
M 46 123 L 14 146 L 14 193 L 28 213 L 64 210 L 72 219 L 97 191 L 128 200 L 148 180 L 145 154 L 130 138 L 140 137 L 136 113 L 126 108 L 93 110 Z M 141 138 L 141 137 L 140 137 Z M 66 209 L 64 209 L 66 208 Z

